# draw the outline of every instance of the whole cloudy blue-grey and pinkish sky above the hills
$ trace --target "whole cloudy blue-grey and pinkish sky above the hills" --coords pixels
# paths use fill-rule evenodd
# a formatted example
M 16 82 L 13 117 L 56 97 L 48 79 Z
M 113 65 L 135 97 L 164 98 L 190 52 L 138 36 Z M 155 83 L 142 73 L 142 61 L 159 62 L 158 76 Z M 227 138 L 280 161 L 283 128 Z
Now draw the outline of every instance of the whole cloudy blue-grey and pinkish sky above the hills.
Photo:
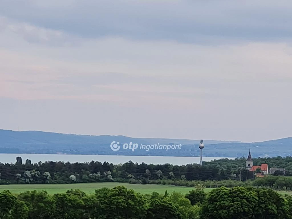
M 1 0 L 0 129 L 292 136 L 292 2 Z

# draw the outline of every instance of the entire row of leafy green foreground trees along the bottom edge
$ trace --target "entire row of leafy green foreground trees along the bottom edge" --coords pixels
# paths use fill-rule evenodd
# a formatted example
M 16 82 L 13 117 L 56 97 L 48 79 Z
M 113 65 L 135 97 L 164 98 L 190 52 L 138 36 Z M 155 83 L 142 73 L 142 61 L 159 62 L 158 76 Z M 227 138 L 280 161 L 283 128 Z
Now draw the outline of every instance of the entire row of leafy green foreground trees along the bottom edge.
M 164 195 L 142 195 L 123 186 L 95 194 L 0 193 L 1 219 L 290 219 L 291 210 L 292 197 L 254 187 L 221 187 L 209 193 L 197 187 L 188 194 Z

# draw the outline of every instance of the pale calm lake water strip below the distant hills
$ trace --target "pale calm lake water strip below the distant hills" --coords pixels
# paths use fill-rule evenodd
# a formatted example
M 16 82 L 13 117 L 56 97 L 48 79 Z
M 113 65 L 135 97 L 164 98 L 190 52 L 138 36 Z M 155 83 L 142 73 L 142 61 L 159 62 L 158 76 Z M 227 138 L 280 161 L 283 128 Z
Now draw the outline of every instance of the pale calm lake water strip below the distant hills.
M 173 165 L 185 165 L 185 164 L 199 164 L 200 157 L 155 157 L 155 156 L 114 156 L 114 155 L 75 155 L 75 154 L 0 154 L 1 163 L 15 163 L 16 157 L 22 157 L 24 163 L 26 159 L 30 159 L 32 163 L 38 163 L 39 161 L 69 161 L 70 163 L 85 163 L 99 161 L 107 161 L 113 164 L 125 163 L 132 161 L 134 163 L 146 163 L 146 164 L 173 164 Z M 212 161 L 222 159 L 224 157 L 203 157 L 203 161 Z M 228 159 L 235 159 L 227 157 Z

